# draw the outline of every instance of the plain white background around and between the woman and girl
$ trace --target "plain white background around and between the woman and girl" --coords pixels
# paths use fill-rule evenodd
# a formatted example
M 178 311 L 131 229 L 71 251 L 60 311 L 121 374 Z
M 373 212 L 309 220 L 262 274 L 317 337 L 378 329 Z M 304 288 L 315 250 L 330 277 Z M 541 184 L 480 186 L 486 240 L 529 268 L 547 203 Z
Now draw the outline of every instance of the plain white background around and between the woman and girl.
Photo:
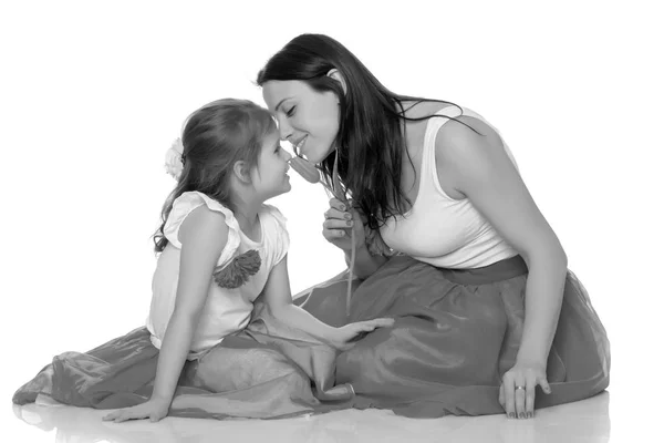
M 366 3 L 2 3 L 2 432 L 52 441 L 10 416 L 13 391 L 53 356 L 143 324 L 151 235 L 174 185 L 166 150 L 207 102 L 263 104 L 258 70 L 302 32 L 335 38 L 394 92 L 499 128 L 609 331 L 612 416 L 652 410 L 664 320 L 656 2 Z M 297 292 L 344 264 L 320 235 L 325 194 L 291 175 L 271 203 L 289 219 Z

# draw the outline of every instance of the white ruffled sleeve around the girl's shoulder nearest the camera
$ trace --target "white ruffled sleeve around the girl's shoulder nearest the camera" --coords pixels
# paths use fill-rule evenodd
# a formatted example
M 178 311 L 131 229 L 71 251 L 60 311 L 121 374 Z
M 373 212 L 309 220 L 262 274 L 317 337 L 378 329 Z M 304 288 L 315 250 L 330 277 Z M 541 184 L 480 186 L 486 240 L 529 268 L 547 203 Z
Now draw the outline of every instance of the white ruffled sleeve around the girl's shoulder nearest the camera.
M 164 226 L 164 235 L 173 246 L 181 249 L 183 245 L 177 238 L 179 228 L 183 225 L 183 222 L 185 222 L 185 218 L 201 205 L 206 205 L 210 210 L 224 214 L 226 219 L 226 225 L 228 226 L 228 240 L 217 261 L 217 266 L 224 266 L 235 257 L 236 251 L 240 246 L 240 226 L 230 209 L 207 195 L 198 192 L 188 192 L 177 197 L 175 202 L 173 202 L 173 209 L 168 215 L 166 226 Z

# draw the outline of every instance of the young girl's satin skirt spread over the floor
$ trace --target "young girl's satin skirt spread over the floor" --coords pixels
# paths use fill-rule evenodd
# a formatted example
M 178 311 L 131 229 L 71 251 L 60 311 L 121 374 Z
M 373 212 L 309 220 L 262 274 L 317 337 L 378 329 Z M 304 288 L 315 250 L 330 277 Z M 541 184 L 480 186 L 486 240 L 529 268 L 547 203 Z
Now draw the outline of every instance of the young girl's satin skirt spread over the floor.
M 118 409 L 147 401 L 159 351 L 146 328 L 89 352 L 65 352 L 21 387 L 13 402 L 38 395 L 75 406 Z M 249 327 L 187 361 L 168 415 L 277 419 L 349 408 L 335 385 L 336 350 L 274 319 L 259 298 Z

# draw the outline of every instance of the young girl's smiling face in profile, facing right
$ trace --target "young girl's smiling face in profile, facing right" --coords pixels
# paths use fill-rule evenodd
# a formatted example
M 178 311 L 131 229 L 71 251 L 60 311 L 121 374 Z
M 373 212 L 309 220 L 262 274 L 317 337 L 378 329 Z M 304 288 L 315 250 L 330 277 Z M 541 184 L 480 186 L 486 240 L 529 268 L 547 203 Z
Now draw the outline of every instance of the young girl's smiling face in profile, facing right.
M 258 163 L 251 168 L 251 183 L 262 200 L 291 189 L 288 161 L 291 155 L 281 147 L 279 133 L 270 132 L 262 142 Z

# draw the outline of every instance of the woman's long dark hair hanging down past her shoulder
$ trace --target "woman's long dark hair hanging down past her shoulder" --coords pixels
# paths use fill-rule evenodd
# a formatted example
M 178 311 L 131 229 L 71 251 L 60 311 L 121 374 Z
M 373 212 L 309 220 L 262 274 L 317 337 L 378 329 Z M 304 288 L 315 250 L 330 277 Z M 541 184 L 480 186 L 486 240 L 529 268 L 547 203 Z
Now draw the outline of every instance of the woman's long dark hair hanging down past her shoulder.
M 342 85 L 328 75 L 332 69 L 344 79 L 345 93 Z M 339 174 L 343 190 L 366 215 L 370 228 L 377 229 L 388 217 L 408 210 L 412 202 L 401 189 L 402 156 L 406 147 L 402 130 L 406 121 L 422 121 L 435 114 L 406 117 L 407 110 L 402 103 L 414 101 L 412 106 L 425 101 L 456 104 L 391 92 L 351 51 L 321 34 L 299 35 L 272 55 L 258 73 L 256 83 L 262 86 L 271 80 L 304 81 L 314 91 L 332 91 L 339 97 L 341 112 L 334 154 L 339 155 Z M 334 155 L 329 155 L 319 166 L 329 183 Z

